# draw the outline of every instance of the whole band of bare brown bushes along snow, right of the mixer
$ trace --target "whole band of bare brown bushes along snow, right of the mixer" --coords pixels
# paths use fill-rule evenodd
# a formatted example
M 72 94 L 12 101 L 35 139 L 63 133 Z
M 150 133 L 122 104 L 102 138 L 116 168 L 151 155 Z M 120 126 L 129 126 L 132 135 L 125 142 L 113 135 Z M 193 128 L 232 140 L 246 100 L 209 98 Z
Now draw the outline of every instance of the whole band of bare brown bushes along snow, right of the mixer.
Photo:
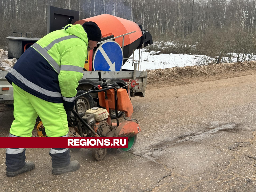
M 208 28 L 203 34 L 197 31 L 185 39 L 158 40 L 145 49 L 166 54 L 204 55 L 197 60 L 197 65 L 217 63 L 219 55 L 222 63 L 251 61 L 256 60 L 256 31 Z

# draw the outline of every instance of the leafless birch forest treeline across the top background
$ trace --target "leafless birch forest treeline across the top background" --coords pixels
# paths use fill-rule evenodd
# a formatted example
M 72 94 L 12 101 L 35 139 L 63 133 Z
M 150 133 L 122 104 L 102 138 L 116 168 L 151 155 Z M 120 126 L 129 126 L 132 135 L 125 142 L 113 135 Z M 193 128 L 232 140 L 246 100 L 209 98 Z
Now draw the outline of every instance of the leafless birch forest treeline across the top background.
M 104 13 L 129 19 L 154 40 L 253 38 L 256 27 L 256 0 L 0 0 L 0 46 L 13 31 L 46 35 L 49 5 L 78 10 L 80 19 Z

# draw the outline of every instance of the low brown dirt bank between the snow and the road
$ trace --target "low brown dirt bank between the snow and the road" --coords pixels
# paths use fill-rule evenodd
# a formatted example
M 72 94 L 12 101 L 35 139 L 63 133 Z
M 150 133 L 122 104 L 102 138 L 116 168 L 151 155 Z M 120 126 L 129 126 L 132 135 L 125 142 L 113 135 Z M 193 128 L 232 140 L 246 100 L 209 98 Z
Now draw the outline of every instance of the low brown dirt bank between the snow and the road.
M 147 83 L 165 80 L 179 80 L 183 78 L 202 77 L 205 75 L 217 75 L 220 73 L 232 73 L 246 70 L 256 70 L 256 61 L 237 63 L 219 63 L 206 66 L 172 67 L 168 69 L 146 70 Z

